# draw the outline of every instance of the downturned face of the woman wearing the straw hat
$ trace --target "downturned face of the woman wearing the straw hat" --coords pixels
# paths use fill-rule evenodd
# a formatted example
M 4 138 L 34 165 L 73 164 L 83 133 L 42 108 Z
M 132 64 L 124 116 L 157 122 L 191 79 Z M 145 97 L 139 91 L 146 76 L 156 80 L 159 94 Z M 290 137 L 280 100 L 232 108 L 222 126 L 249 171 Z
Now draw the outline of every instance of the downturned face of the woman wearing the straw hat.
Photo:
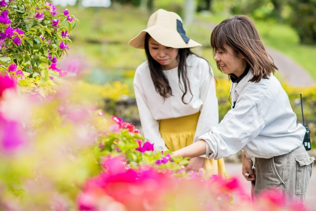
M 163 46 L 152 37 L 148 39 L 148 47 L 150 56 L 161 65 L 162 70 L 170 70 L 179 65 L 178 48 Z

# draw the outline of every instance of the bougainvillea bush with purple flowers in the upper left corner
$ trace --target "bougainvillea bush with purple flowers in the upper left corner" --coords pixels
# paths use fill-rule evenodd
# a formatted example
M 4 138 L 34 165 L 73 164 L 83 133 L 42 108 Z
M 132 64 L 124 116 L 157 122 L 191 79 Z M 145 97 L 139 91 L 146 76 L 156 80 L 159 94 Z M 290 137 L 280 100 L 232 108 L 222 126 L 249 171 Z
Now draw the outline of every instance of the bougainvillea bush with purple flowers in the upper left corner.
M 1 0 L 0 71 L 24 90 L 45 95 L 54 79 L 67 75 L 57 61 L 69 49 L 69 33 L 76 22 L 67 9 L 59 13 L 44 0 Z

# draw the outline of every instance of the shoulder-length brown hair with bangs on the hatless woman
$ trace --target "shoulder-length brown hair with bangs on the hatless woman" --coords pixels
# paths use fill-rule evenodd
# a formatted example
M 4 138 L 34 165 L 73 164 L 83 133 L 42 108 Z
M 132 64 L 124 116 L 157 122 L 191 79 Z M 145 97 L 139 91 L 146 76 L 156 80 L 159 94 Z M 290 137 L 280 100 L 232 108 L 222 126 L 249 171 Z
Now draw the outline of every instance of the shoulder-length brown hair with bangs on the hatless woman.
M 217 49 L 226 51 L 225 45 L 233 48 L 235 56 L 241 53 L 245 57 L 253 74 L 251 82 L 259 82 L 261 78 L 268 78 L 271 73 L 278 70 L 273 59 L 264 49 L 255 24 L 247 16 L 232 16 L 213 29 L 211 34 L 213 56 Z M 217 68 L 222 71 L 218 63 Z M 230 77 L 230 74 L 228 75 Z

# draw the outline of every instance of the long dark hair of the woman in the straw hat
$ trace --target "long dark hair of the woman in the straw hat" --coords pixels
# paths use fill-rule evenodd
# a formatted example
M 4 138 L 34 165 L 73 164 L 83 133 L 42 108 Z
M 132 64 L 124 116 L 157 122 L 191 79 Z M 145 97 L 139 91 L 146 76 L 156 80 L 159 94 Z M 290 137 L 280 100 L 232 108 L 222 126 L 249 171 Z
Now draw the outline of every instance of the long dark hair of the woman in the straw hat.
M 155 59 L 153 59 L 149 53 L 149 45 L 148 45 L 149 38 L 150 38 L 150 35 L 147 33 L 145 37 L 145 52 L 146 52 L 146 56 L 148 60 L 150 76 L 151 76 L 151 79 L 153 80 L 156 92 L 160 94 L 160 96 L 162 96 L 164 99 L 166 99 L 167 97 L 173 96 L 172 90 L 169 85 L 168 79 L 163 74 L 161 65 Z M 186 58 L 190 54 L 196 55 L 195 53 L 191 52 L 190 48 L 179 48 L 179 53 L 177 56 L 177 59 L 179 62 L 179 65 L 178 65 L 179 87 L 180 87 L 180 90 L 183 92 L 181 99 L 184 104 L 188 104 L 189 102 L 191 102 L 193 98 L 190 82 L 188 79 L 187 64 L 186 64 Z M 182 78 L 182 82 L 180 81 L 180 78 Z M 189 102 L 185 102 L 184 96 L 188 92 L 188 90 L 190 91 L 192 97 Z

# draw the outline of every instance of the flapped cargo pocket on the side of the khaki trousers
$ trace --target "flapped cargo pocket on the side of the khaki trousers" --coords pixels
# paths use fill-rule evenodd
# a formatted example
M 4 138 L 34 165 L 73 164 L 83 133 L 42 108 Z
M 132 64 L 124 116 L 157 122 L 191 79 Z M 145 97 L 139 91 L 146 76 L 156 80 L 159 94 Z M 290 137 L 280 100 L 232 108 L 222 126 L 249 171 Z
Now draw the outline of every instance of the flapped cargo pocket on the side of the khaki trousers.
M 295 194 L 306 194 L 309 179 L 312 175 L 313 163 L 315 158 L 313 157 L 296 157 L 296 189 Z

